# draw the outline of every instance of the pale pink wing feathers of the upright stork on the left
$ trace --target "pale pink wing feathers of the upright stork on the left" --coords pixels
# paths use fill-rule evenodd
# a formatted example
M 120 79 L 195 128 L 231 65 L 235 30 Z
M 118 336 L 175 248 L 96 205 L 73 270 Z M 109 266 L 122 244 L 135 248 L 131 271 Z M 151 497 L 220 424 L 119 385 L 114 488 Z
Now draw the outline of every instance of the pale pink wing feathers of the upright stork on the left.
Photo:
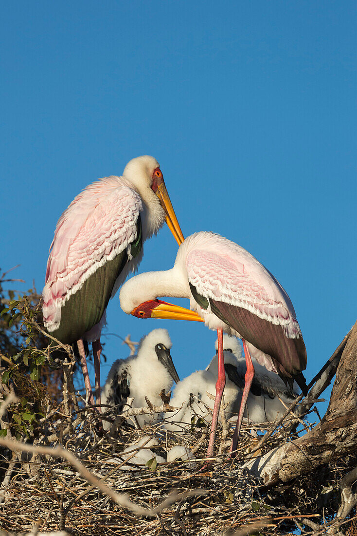
M 60 309 L 88 277 L 136 239 L 142 211 L 137 192 L 120 177 L 104 177 L 83 190 L 59 218 L 50 247 L 43 318 L 57 329 Z

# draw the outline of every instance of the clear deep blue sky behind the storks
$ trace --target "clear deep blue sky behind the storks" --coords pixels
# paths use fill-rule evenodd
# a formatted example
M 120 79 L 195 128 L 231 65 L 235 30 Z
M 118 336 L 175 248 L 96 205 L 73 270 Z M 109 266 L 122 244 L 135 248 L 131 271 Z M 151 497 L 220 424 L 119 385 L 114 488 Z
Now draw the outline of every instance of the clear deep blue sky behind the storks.
M 354 2 L 3 3 L 2 270 L 41 289 L 74 196 L 152 154 L 185 235 L 226 236 L 284 285 L 312 378 L 356 319 L 356 19 Z M 162 229 L 139 271 L 176 250 Z M 111 301 L 108 332 L 155 327 L 181 377 L 215 353 L 204 326 Z M 127 349 L 103 341 L 104 379 Z

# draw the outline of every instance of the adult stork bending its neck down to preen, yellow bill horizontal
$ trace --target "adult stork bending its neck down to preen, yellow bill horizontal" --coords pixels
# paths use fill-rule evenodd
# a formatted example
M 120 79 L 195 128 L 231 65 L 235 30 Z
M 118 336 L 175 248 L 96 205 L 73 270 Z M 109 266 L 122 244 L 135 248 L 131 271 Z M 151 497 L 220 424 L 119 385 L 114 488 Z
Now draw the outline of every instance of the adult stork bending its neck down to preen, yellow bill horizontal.
M 192 310 L 157 300 L 161 296 L 189 298 Z M 208 457 L 213 453 L 225 385 L 223 331 L 242 339 L 247 364 L 233 452 L 254 377 L 250 352 L 291 387 L 295 379 L 306 391 L 301 374 L 306 368 L 306 348 L 290 298 L 253 255 L 222 236 L 207 232 L 188 236 L 171 270 L 142 273 L 126 282 L 120 291 L 120 306 L 138 318 L 203 321 L 217 330 L 218 380 Z

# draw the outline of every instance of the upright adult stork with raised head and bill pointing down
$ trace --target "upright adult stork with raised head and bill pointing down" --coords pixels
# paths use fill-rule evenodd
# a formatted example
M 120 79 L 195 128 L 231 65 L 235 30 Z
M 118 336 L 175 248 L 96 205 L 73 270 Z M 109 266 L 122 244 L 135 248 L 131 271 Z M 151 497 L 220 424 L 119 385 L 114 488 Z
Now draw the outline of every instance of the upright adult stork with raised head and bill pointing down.
M 128 273 L 138 267 L 143 242 L 164 221 L 180 244 L 184 237 L 157 160 L 127 163 L 121 177 L 89 184 L 59 218 L 52 241 L 43 296 L 49 333 L 77 342 L 87 398 L 93 404 L 83 339 L 93 343 L 96 403 L 100 405 L 100 342 L 105 309 Z

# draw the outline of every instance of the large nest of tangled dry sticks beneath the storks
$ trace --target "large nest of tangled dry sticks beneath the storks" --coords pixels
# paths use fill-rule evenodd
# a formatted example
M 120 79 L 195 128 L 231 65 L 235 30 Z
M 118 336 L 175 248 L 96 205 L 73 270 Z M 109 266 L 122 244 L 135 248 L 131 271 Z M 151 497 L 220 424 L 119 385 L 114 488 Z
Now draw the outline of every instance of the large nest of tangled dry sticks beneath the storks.
M 169 411 L 167 399 L 163 408 Z M 264 534 L 287 534 L 301 528 L 302 519 L 320 522 L 322 511 L 327 520 L 333 518 L 341 474 L 355 464 L 345 459 L 335 467 L 322 467 L 313 482 L 309 477 L 264 490 L 245 470 L 245 460 L 297 437 L 296 419 L 294 427 L 286 421 L 263 444 L 264 428 L 245 423 L 237 457 L 230 460 L 233 424 L 221 411 L 215 445 L 219 454 L 207 466 L 209 422 L 202 418 L 193 416 L 191 426 L 172 432 L 165 429 L 164 418 L 154 422 L 147 415 L 147 425 L 138 428 L 134 416 L 118 420 L 109 410 L 104 418 L 112 422 L 111 433 L 103 433 L 100 415 L 92 408 L 76 413 L 71 408 L 71 415 L 64 411 L 63 404 L 51 407 L 47 401 L 34 446 L 25 443 L 22 451 L 12 449 L 12 458 L 10 451 L 3 451 L 4 531 L 23 533 L 38 527 L 93 536 L 214 536 L 264 527 Z M 300 429 L 309 426 L 300 421 Z M 41 452 L 39 444 L 48 450 Z M 177 445 L 184 447 L 184 455 L 165 461 Z M 72 458 L 64 459 L 63 452 L 80 460 L 82 468 L 74 466 Z

